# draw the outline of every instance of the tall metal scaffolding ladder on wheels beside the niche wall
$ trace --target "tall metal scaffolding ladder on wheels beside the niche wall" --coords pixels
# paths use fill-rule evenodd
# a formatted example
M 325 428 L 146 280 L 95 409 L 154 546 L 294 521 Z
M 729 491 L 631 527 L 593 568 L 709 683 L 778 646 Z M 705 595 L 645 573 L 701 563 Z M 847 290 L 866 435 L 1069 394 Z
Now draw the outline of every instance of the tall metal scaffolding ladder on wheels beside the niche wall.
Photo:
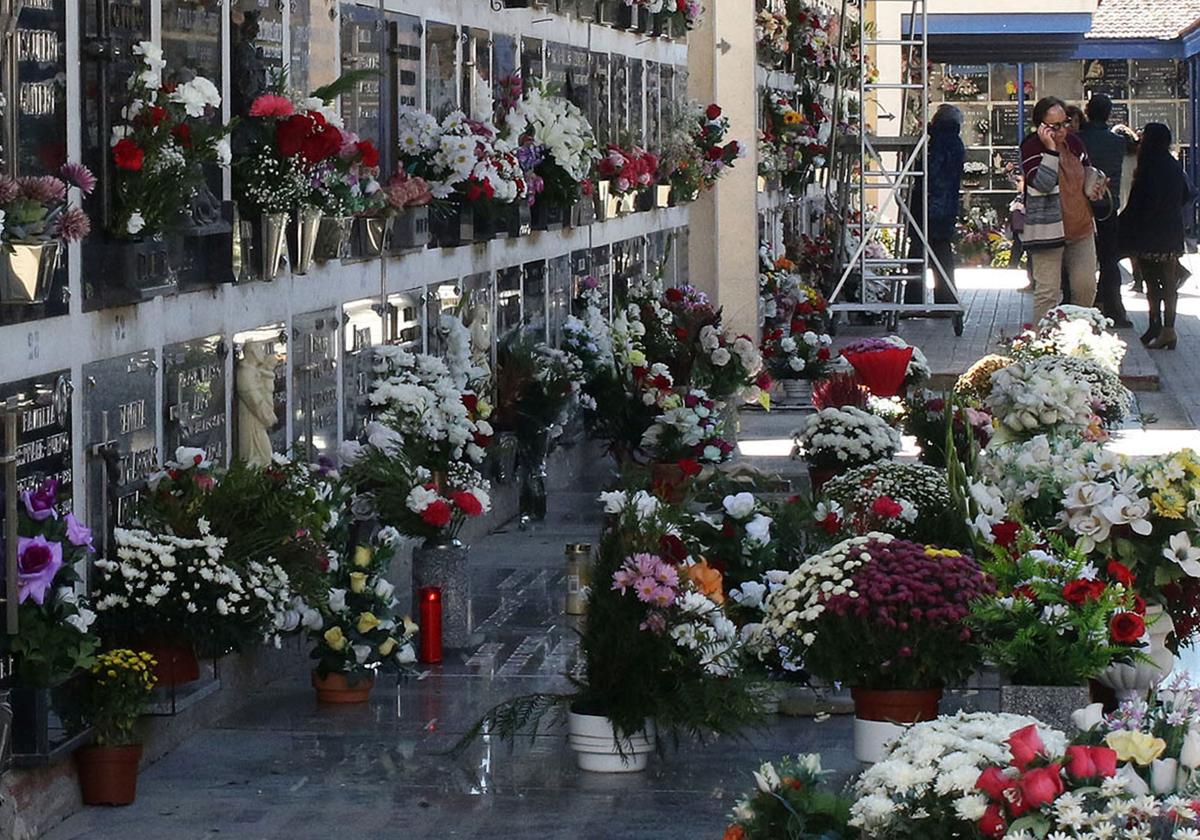
M 846 152 L 851 152 L 853 145 L 858 146 L 858 174 L 854 179 L 858 205 L 847 206 L 856 192 L 847 180 L 848 188 L 839 190 L 839 198 L 844 200 L 838 202 L 839 206 L 835 208 L 840 214 L 838 253 L 845 258 L 845 263 L 829 294 L 829 308 L 835 323 L 842 313 L 848 316 L 860 312 L 883 316 L 889 330 L 895 330 L 900 318 L 905 316 L 950 317 L 954 334 L 961 336 L 965 310 L 953 278 L 947 283 L 947 289 L 954 302 L 925 301 L 925 278 L 930 269 L 942 269 L 929 242 L 929 14 L 925 0 L 875 0 L 874 6 L 878 19 L 883 8 L 901 2 L 910 7 L 907 25 L 900 26 L 899 37 L 880 37 L 868 16 L 863 12 L 851 16 L 850 0 L 842 0 L 842 47 L 846 26 L 857 25 L 863 59 L 863 66 L 858 70 L 858 137 L 847 137 L 840 144 L 850 146 Z M 857 20 L 852 17 L 857 17 Z M 866 62 L 872 49 L 876 55 L 884 49 L 898 50 L 899 61 L 894 66 L 900 68 L 899 80 L 869 78 Z M 876 61 L 876 65 L 882 64 Z M 842 84 L 845 66 L 846 62 L 839 64 L 834 89 L 835 131 L 846 88 Z M 884 91 L 899 91 L 899 116 L 890 114 L 880 102 L 880 94 Z M 872 104 L 874 133 L 868 126 Z M 895 126 L 895 133 L 882 131 L 883 124 L 888 121 Z M 838 145 L 834 139 L 830 149 L 836 149 Z M 853 179 L 852 168 L 845 163 L 840 166 L 842 178 Z M 911 199 L 917 191 L 922 198 L 920 211 L 913 214 Z M 877 197 L 878 208 L 868 218 L 872 197 Z M 852 217 L 852 211 L 856 210 Z M 890 235 L 884 236 L 888 232 Z M 910 248 L 912 244 L 918 244 L 919 247 Z M 919 284 L 922 302 L 905 302 L 905 289 L 910 283 Z

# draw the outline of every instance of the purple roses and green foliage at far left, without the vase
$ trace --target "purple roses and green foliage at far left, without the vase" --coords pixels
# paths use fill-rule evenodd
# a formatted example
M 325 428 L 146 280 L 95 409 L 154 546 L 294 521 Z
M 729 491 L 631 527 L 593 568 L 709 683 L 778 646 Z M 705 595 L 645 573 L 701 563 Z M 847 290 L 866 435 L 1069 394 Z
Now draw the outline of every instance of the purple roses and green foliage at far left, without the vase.
M 76 569 L 91 548 L 91 530 L 59 512 L 58 482 L 20 494 L 17 508 L 17 618 L 19 630 L 0 649 L 13 658 L 17 680 L 53 686 L 88 668 L 100 640 L 96 613 L 76 592 Z

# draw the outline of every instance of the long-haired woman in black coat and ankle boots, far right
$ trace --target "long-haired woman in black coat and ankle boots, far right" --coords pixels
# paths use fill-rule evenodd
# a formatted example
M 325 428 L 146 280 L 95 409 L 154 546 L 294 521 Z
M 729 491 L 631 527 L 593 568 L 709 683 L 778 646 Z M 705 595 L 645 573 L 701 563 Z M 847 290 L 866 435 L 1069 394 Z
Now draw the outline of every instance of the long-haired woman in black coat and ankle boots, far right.
M 1194 192 L 1183 167 L 1171 155 L 1171 130 L 1151 122 L 1141 133 L 1138 169 L 1129 203 L 1121 211 L 1121 247 L 1141 275 L 1150 304 L 1150 329 L 1141 342 L 1151 349 L 1174 350 L 1178 304 L 1180 257 L 1183 256 L 1182 208 Z

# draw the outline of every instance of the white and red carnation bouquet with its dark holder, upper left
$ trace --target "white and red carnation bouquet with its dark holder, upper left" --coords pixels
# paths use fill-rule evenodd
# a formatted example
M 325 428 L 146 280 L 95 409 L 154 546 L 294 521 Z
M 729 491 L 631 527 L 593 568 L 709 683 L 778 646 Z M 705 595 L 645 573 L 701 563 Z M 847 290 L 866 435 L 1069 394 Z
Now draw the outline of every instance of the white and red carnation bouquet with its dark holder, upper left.
M 142 68 L 113 127 L 103 271 L 143 294 L 174 280 L 166 238 L 221 217 L 205 168 L 228 167 L 232 152 L 217 86 L 203 76 L 164 84 L 162 48 L 142 41 L 133 52 Z

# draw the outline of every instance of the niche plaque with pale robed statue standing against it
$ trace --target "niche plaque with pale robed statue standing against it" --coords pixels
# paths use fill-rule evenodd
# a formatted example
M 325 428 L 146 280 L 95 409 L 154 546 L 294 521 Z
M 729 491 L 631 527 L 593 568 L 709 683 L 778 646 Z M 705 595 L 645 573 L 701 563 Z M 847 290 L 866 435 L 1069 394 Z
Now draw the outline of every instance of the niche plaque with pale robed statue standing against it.
M 239 332 L 233 337 L 233 457 L 263 466 L 272 452 L 287 452 L 288 336 L 283 324 Z

